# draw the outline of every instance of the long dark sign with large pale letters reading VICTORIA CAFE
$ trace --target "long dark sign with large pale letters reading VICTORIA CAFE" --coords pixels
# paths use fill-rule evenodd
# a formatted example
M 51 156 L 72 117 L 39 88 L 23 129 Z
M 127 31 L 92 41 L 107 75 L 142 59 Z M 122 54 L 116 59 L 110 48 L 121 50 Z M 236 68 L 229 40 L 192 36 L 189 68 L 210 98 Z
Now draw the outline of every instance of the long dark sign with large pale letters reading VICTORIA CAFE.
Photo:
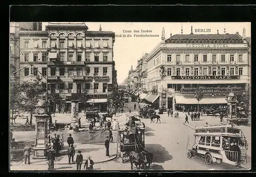
M 181 80 L 228 80 L 228 79 L 240 79 L 239 75 L 206 75 L 206 76 L 172 76 L 172 79 Z

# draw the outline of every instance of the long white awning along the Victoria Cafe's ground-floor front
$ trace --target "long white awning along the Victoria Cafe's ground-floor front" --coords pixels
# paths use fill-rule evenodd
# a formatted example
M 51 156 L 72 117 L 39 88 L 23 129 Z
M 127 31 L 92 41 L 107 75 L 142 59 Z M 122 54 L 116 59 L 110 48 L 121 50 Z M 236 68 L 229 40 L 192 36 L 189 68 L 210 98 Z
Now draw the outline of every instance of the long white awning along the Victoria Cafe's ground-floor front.
M 198 104 L 197 99 L 194 96 L 175 96 L 176 104 Z M 225 96 L 222 95 L 204 95 L 204 97 L 199 101 L 201 105 L 208 104 L 226 104 L 227 100 Z

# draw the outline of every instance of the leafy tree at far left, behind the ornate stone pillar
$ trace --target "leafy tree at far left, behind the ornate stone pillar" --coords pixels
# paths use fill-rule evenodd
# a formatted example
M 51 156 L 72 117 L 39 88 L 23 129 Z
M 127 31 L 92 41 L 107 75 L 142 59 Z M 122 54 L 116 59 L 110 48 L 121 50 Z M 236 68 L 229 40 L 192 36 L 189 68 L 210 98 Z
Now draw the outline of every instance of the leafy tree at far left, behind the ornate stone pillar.
M 45 88 L 42 86 L 41 78 L 36 77 L 33 81 L 25 81 L 20 84 L 20 92 L 16 97 L 19 102 L 20 109 L 30 112 L 30 118 L 33 117 L 33 111 L 39 99 L 44 97 L 46 93 Z

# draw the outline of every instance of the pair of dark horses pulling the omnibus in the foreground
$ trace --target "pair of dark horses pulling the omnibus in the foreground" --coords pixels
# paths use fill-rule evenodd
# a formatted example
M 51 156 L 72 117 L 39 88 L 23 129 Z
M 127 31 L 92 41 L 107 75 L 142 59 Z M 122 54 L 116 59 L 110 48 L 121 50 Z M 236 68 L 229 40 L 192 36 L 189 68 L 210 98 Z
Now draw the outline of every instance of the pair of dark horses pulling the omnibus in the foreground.
M 130 158 L 131 170 L 133 170 L 133 164 L 135 164 L 137 170 L 140 170 L 141 165 L 146 168 L 148 164 L 148 168 L 150 168 L 150 164 L 153 162 L 153 154 L 147 150 L 142 150 L 140 153 L 131 151 L 127 156 Z

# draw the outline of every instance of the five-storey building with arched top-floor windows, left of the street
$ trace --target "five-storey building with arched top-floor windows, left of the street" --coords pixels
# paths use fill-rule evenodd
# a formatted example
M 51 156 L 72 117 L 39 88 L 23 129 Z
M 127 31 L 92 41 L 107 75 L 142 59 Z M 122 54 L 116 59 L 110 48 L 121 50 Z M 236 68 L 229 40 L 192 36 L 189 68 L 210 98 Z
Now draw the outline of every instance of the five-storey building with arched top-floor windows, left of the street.
M 59 112 L 71 111 L 71 100 L 86 91 L 87 104 L 107 110 L 107 97 L 116 85 L 113 45 L 115 33 L 88 31 L 85 23 L 48 23 L 46 31 L 20 31 L 20 82 L 29 80 L 30 71 L 48 78 L 48 88 L 63 99 Z M 49 54 L 47 51 L 49 49 Z M 42 78 L 44 82 L 46 79 Z M 94 81 L 94 82 L 93 82 Z M 79 111 L 84 108 L 79 103 Z

